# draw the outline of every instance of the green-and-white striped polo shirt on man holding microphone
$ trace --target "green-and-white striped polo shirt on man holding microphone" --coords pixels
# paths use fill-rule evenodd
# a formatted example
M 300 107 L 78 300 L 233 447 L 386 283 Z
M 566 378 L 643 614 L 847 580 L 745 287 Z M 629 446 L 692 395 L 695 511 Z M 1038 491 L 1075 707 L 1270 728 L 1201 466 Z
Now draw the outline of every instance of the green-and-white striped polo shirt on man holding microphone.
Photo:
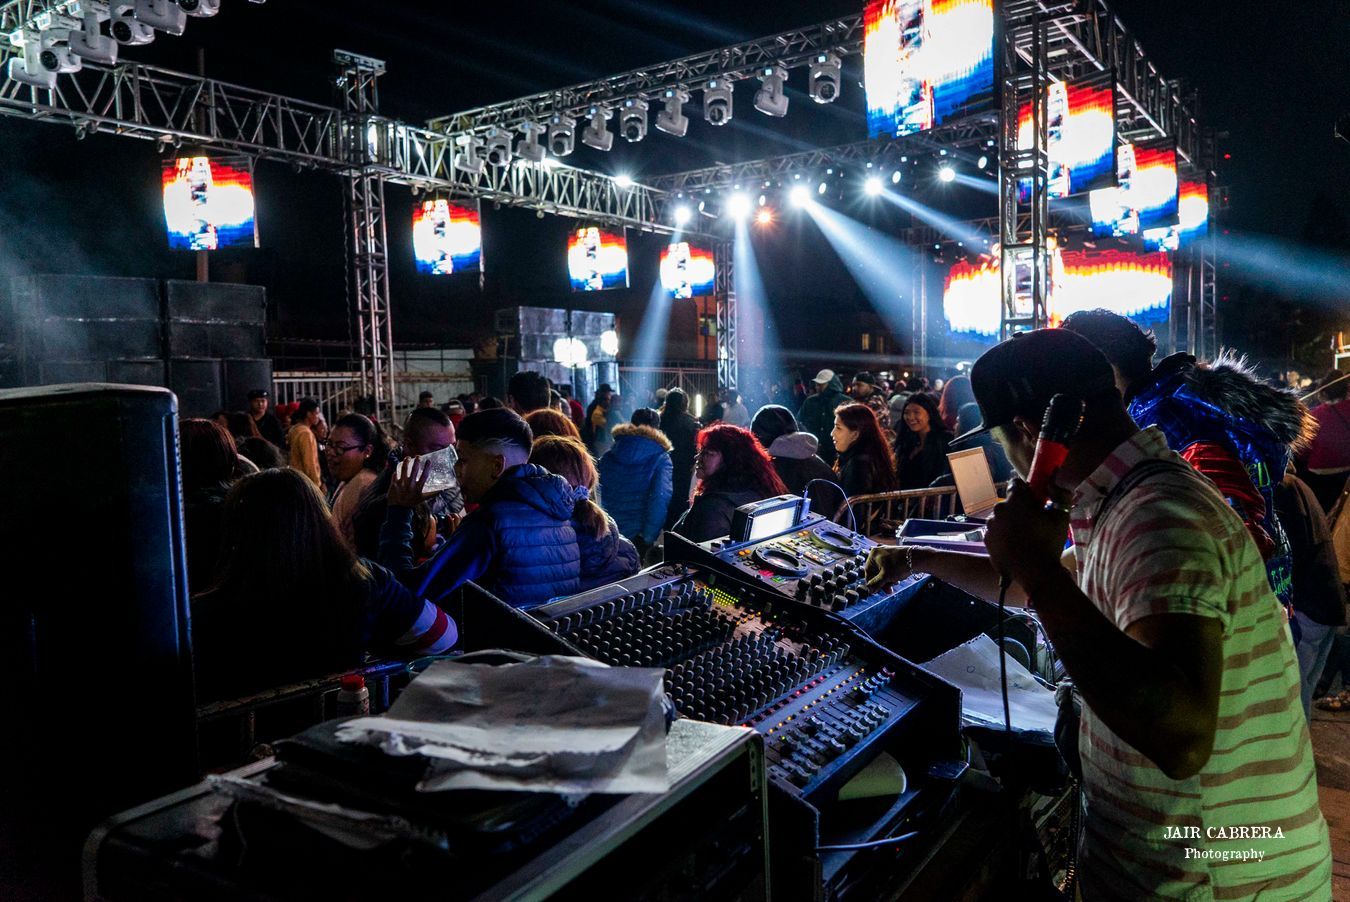
M 1181 460 L 1148 428 L 1077 487 L 1079 586 L 1122 631 L 1153 614 L 1222 624 L 1218 732 L 1204 768 L 1173 780 L 1084 706 L 1083 898 L 1330 899 L 1299 667 L 1242 521 L 1189 467 L 1153 471 L 1095 521 L 1112 486 L 1149 458 Z

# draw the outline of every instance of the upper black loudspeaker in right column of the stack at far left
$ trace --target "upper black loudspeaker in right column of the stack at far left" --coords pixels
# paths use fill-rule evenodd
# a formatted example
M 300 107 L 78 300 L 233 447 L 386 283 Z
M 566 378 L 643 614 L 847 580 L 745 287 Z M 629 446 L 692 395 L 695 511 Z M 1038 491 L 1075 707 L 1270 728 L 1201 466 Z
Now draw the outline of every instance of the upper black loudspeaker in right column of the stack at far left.
M 165 282 L 169 356 L 266 354 L 266 292 L 258 285 Z

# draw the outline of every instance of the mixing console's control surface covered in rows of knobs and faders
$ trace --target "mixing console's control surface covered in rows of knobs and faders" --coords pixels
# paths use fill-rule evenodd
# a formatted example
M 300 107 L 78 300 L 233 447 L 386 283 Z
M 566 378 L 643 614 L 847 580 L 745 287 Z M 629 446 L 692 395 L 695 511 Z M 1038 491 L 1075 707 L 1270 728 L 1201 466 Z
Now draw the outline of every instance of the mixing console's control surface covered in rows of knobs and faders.
M 664 667 L 682 716 L 755 728 L 794 793 L 841 785 L 921 705 L 957 717 L 954 690 L 865 637 L 698 568 L 653 567 L 531 614 L 597 660 Z

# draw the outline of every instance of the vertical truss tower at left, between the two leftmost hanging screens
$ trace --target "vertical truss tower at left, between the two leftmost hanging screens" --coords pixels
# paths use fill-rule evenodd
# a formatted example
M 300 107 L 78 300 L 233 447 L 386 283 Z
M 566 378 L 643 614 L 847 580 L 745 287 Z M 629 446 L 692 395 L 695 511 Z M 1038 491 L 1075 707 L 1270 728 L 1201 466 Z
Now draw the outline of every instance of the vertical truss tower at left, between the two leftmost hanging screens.
M 385 178 L 377 166 L 389 155 L 389 128 L 379 112 L 379 76 L 385 63 L 344 50 L 333 51 L 338 90 L 348 117 L 343 124 L 347 173 L 347 228 L 351 240 L 351 290 L 360 335 L 362 393 L 375 417 L 396 421 L 394 339 L 389 311 L 389 240 Z

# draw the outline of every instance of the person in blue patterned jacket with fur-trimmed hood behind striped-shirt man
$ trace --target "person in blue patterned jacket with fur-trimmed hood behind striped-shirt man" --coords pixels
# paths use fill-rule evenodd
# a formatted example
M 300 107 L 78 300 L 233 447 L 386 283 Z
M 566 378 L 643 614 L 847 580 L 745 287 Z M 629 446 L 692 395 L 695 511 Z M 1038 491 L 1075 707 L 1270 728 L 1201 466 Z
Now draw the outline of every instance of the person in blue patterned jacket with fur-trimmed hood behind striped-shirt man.
M 1218 486 L 1256 540 L 1270 587 L 1288 609 L 1293 563 L 1274 489 L 1289 458 L 1316 432 L 1308 408 L 1293 392 L 1260 381 L 1241 356 L 1197 362 L 1173 354 L 1153 366 L 1153 334 L 1110 311 L 1072 313 L 1064 328 L 1106 354 L 1134 421 L 1162 429 L 1168 446 Z

